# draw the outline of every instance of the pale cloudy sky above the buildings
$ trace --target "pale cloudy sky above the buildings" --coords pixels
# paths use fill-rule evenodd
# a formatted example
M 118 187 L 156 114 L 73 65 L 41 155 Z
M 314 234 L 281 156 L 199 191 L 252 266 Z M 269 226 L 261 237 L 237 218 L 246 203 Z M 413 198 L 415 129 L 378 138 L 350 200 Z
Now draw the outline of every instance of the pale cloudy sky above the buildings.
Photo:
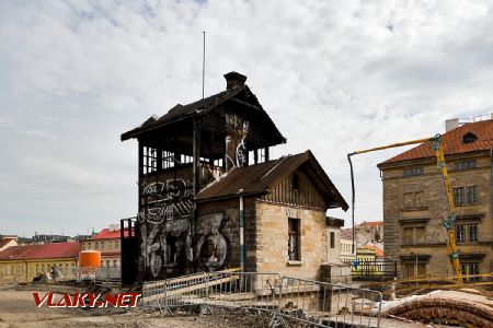
M 493 112 L 492 1 L 0 0 L 0 234 L 87 234 L 137 213 L 119 136 L 238 71 L 287 143 L 351 202 L 346 154 Z M 356 222 L 382 220 L 354 157 Z M 330 210 L 346 220 L 351 212 Z

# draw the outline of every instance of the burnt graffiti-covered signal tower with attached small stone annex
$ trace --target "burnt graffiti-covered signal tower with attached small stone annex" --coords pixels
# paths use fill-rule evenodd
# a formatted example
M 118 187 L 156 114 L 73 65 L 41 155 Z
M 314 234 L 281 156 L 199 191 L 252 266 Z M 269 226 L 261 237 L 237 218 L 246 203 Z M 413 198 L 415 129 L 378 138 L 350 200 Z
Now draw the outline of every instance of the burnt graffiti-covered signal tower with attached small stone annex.
M 246 77 L 225 78 L 226 91 L 122 134 L 139 149 L 135 243 L 123 243 L 136 256 L 122 263 L 138 281 L 233 267 L 317 278 L 328 260 L 325 212 L 347 203 L 310 151 L 270 159 L 286 139 Z

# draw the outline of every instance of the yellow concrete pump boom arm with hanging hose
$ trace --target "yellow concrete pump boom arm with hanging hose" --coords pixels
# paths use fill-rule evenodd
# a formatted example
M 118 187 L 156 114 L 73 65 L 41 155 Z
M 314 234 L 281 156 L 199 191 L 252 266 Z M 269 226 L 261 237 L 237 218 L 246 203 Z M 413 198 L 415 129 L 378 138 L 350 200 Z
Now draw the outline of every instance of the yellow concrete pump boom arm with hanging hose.
M 432 149 L 435 151 L 437 167 L 442 173 L 442 177 L 444 178 L 445 189 L 446 189 L 446 194 L 447 194 L 449 215 L 442 223 L 442 225 L 445 229 L 445 233 L 446 233 L 445 239 L 447 243 L 448 253 L 450 255 L 450 262 L 457 274 L 458 284 L 462 285 L 463 284 L 462 271 L 460 269 L 459 255 L 457 253 L 457 244 L 456 244 L 456 233 L 454 231 L 454 222 L 456 221 L 456 204 L 454 202 L 452 189 L 451 189 L 450 180 L 448 177 L 447 165 L 445 163 L 444 148 L 442 144 L 442 136 L 440 134 L 436 134 L 435 137 L 432 137 L 432 138 L 417 139 L 417 140 L 412 140 L 412 141 L 388 144 L 388 145 L 383 145 L 383 147 L 371 148 L 371 149 L 356 151 L 356 152 L 347 154 L 347 161 L 349 161 L 349 167 L 351 167 L 351 187 L 352 187 L 352 191 L 353 191 L 353 199 L 352 199 L 353 253 L 355 251 L 355 244 L 354 244 L 355 243 L 354 242 L 355 241 L 355 234 L 354 234 L 355 187 L 354 187 L 353 163 L 351 161 L 351 156 L 357 155 L 357 154 L 375 152 L 375 151 L 379 151 L 379 150 L 385 150 L 385 149 L 390 149 L 390 148 L 402 147 L 402 145 L 423 143 L 423 142 L 428 142 L 428 141 L 432 143 Z

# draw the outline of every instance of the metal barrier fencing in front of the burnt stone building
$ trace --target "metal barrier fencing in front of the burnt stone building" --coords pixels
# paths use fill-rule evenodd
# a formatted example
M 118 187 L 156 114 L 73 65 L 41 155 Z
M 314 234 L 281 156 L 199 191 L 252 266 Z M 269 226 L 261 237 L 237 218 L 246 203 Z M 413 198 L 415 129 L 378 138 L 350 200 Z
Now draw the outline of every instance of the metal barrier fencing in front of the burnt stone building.
M 272 315 L 270 327 L 286 320 L 316 327 L 379 327 L 381 293 L 278 273 L 195 273 L 142 285 L 141 306 L 173 315 L 176 308 L 199 306 L 200 314 L 214 308 L 245 308 Z

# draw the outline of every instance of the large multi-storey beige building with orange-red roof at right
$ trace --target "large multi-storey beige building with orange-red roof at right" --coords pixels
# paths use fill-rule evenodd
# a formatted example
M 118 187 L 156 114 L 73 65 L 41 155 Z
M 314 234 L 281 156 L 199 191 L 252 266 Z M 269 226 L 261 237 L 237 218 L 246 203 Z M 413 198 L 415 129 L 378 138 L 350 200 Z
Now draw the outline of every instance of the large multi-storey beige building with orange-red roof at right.
M 493 120 L 458 124 L 442 136 L 457 207 L 459 260 L 466 274 L 493 271 Z M 429 142 L 378 167 L 383 181 L 386 257 L 404 277 L 452 274 L 443 220 L 448 214 L 444 180 Z

